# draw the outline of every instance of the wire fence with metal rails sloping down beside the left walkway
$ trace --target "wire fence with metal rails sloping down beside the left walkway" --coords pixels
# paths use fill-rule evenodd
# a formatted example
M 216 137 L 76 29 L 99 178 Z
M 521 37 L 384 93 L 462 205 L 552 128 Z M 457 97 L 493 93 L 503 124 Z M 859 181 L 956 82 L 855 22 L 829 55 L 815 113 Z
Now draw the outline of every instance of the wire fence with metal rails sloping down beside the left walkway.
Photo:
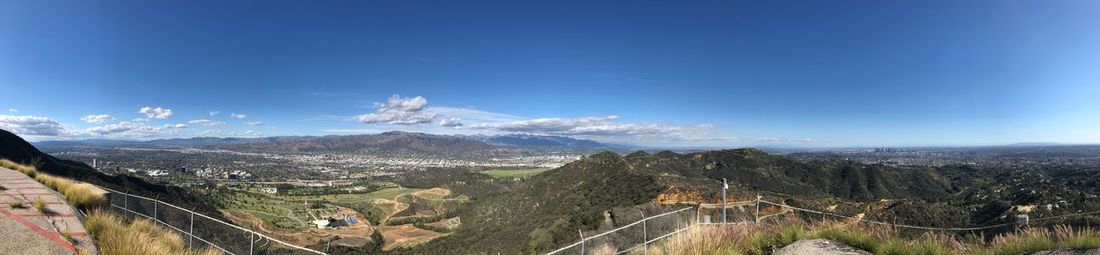
M 184 246 L 189 251 L 200 252 L 215 248 L 223 254 L 310 254 L 324 255 L 322 252 L 301 247 L 287 242 L 272 239 L 262 233 L 244 229 L 224 221 L 183 209 L 161 200 L 131 195 L 99 187 L 107 190 L 109 208 L 129 219 L 147 219 L 156 225 L 169 229 L 183 236 Z

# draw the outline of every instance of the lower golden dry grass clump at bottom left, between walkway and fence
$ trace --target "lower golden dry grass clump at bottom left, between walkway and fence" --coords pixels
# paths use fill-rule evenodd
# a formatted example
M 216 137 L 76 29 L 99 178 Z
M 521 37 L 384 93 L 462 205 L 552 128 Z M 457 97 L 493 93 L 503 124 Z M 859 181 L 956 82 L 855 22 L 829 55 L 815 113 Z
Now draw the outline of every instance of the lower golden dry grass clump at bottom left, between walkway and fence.
M 148 220 L 128 222 L 108 211 L 92 210 L 84 225 L 105 255 L 221 254 L 217 250 L 189 252 L 178 234 Z

